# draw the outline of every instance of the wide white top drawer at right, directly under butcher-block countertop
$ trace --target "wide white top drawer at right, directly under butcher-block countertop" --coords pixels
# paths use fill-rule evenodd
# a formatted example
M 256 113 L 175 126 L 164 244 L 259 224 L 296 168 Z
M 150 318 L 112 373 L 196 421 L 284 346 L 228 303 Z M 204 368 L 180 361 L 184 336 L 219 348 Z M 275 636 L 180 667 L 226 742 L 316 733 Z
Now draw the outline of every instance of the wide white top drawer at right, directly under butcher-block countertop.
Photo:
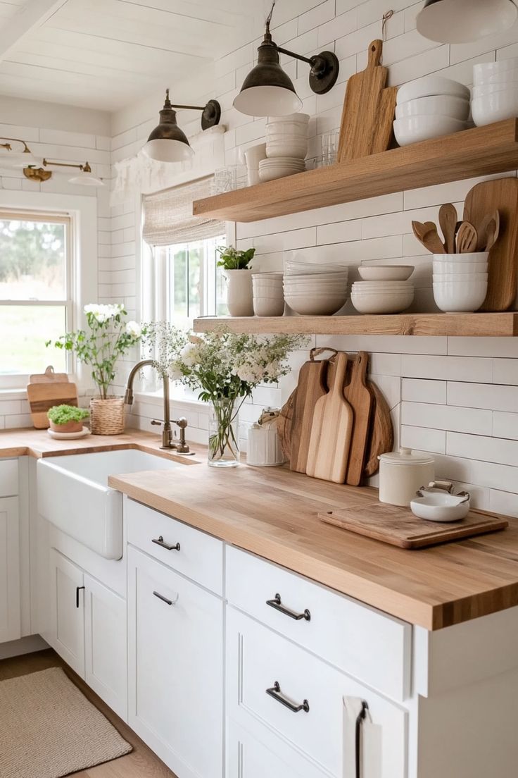
M 231 605 L 393 699 L 408 697 L 409 624 L 237 548 L 228 547 L 226 569 Z M 309 620 L 267 605 L 277 594 L 282 607 L 308 611 Z

